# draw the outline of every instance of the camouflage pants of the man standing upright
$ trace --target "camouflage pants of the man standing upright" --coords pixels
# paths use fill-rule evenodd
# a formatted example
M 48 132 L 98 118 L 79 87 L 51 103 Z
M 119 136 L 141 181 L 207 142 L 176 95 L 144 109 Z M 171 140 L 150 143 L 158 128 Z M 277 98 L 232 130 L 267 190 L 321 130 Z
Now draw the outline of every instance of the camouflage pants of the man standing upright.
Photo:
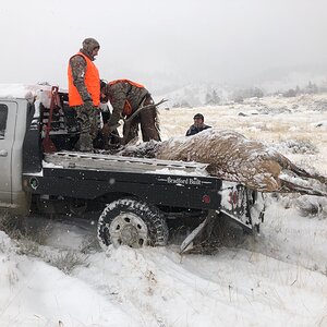
M 75 110 L 81 133 L 76 147 L 81 152 L 93 150 L 93 141 L 97 136 L 100 123 L 99 109 L 86 102 L 75 107 Z

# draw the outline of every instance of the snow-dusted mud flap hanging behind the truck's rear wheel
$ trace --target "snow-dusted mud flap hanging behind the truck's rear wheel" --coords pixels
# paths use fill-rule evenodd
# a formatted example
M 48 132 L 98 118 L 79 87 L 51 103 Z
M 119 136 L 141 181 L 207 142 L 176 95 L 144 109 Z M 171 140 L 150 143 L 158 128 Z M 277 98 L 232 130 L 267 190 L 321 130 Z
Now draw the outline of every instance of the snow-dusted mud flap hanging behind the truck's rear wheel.
M 201 222 L 183 241 L 180 247 L 180 254 L 192 250 L 194 244 L 201 243 L 204 240 L 208 239 L 213 232 L 213 227 L 216 218 L 216 210 L 209 210 L 206 219 Z

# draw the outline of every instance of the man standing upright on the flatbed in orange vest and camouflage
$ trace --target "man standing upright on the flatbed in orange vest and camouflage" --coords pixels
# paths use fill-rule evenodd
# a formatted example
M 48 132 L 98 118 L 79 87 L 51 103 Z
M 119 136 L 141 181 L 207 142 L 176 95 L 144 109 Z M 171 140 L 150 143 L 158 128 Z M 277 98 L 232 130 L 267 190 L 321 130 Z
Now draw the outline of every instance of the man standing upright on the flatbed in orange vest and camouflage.
M 76 149 L 93 150 L 93 140 L 98 132 L 100 105 L 100 77 L 95 57 L 100 49 L 94 38 L 86 38 L 80 51 L 70 58 L 68 68 L 69 105 L 76 110 L 81 128 Z

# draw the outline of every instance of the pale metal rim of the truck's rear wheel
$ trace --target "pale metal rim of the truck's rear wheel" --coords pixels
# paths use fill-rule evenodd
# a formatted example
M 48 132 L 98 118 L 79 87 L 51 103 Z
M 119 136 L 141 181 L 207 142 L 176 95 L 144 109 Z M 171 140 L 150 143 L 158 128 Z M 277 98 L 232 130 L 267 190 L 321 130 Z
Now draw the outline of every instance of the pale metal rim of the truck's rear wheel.
M 147 245 L 147 226 L 138 216 L 132 213 L 121 213 L 107 228 L 114 247 L 129 245 L 137 249 Z

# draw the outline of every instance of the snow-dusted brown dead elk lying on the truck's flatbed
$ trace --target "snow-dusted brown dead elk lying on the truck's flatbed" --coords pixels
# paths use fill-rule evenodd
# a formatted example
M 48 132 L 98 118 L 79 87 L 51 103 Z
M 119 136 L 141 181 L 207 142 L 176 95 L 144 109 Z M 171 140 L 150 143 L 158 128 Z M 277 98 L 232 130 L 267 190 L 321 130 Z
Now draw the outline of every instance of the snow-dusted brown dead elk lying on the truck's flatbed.
M 150 141 L 126 146 L 121 154 L 208 164 L 210 175 L 262 192 L 327 194 L 325 177 L 308 173 L 275 149 L 233 131 L 209 129 L 193 136 Z

